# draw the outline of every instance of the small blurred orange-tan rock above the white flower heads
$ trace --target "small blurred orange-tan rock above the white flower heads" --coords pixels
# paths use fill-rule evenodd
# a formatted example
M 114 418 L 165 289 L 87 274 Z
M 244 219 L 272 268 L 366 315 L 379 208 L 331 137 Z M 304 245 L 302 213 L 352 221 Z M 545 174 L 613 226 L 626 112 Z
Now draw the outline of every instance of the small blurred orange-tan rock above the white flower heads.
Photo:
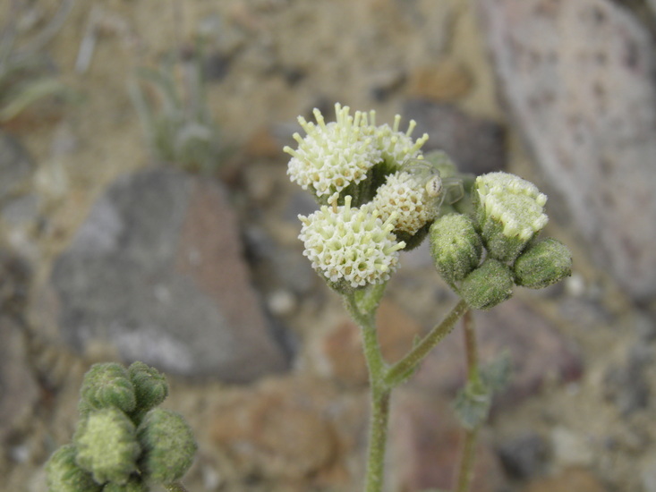
M 472 83 L 472 76 L 463 64 L 446 59 L 412 72 L 408 91 L 414 98 L 448 101 L 464 97 L 472 89 Z M 432 139 L 433 134 L 429 134 Z

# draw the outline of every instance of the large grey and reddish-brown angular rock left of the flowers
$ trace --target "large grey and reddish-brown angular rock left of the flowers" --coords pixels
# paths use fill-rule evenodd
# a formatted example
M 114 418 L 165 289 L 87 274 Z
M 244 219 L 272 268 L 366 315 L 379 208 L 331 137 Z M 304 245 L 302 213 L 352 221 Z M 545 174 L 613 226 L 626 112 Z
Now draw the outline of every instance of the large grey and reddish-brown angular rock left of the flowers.
M 113 183 L 56 259 L 41 318 L 74 349 L 247 382 L 285 369 L 217 183 L 152 168 Z M 48 295 L 40 296 L 47 298 Z

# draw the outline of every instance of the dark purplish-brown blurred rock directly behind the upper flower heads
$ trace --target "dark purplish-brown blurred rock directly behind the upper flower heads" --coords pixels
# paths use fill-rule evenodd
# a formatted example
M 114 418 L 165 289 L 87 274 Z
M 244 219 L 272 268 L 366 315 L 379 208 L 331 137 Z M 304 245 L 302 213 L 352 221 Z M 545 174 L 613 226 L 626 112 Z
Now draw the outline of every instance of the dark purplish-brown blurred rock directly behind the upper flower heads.
M 403 115 L 417 122 L 417 135 L 429 134 L 424 152 L 444 150 L 464 173 L 484 174 L 506 166 L 506 134 L 498 123 L 421 98 L 405 103 Z

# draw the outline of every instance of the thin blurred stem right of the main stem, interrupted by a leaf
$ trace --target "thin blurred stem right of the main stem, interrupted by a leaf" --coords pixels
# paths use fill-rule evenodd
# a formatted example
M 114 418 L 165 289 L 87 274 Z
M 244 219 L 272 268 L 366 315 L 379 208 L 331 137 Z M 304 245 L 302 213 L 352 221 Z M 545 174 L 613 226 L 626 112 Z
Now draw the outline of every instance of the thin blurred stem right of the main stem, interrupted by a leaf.
M 478 379 L 478 349 L 472 311 L 466 311 L 463 318 L 464 352 L 467 359 L 467 379 Z M 476 454 L 476 437 L 480 426 L 464 430 L 460 467 L 456 476 L 456 492 L 467 492 L 473 478 L 473 464 Z

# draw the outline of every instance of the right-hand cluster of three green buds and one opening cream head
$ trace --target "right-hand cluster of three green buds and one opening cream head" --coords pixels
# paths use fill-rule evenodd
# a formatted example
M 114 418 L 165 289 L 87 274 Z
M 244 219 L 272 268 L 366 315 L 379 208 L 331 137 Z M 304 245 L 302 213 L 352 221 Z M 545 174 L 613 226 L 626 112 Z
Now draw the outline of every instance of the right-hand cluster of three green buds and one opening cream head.
M 474 309 L 512 296 L 515 285 L 541 289 L 571 275 L 572 253 L 539 240 L 547 197 L 513 174 L 476 178 L 471 213 L 441 216 L 430 226 L 430 253 L 440 276 Z

